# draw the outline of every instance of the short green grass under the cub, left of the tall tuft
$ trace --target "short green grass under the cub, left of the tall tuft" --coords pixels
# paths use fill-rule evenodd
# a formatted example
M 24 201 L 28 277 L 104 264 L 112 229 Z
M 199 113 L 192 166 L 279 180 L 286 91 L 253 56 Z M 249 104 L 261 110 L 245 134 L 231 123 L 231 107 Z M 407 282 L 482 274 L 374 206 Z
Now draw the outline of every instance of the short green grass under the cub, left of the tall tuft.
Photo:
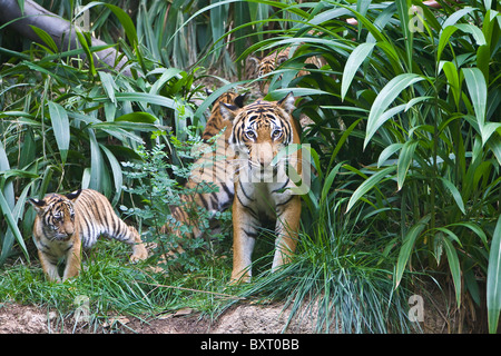
M 72 325 L 76 300 L 87 297 L 91 323 L 98 329 L 117 315 L 153 319 L 157 315 L 193 308 L 205 316 L 229 297 L 228 261 L 207 266 L 196 274 L 154 273 L 151 264 L 128 263 L 127 246 L 99 241 L 84 259 L 79 277 L 65 283 L 48 281 L 38 259 L 31 264 L 7 264 L 0 270 L 0 300 L 56 309 L 63 323 Z

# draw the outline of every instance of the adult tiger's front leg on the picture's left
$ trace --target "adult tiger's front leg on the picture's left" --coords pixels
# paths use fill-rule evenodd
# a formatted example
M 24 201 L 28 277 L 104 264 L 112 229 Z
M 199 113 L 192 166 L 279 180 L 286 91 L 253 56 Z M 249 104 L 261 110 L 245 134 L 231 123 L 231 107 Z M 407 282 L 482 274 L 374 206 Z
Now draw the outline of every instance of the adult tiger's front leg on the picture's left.
M 233 205 L 233 271 L 230 283 L 249 281 L 252 254 L 256 243 L 255 219 L 237 200 Z

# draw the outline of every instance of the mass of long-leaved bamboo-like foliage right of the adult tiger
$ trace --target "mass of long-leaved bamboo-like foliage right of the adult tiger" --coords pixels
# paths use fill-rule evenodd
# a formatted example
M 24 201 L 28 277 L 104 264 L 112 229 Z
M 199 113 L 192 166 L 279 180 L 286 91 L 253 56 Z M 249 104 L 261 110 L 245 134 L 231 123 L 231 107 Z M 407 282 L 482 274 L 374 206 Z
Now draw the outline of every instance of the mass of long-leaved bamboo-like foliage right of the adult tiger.
M 397 246 L 395 288 L 407 268 L 446 266 L 458 306 L 465 297 L 480 305 L 480 278 L 495 332 L 501 17 L 490 2 L 441 4 L 326 1 L 266 46 L 302 44 L 282 66 L 283 78 L 304 57 L 327 61 L 285 86 L 312 90 L 297 93 L 311 98 L 302 108 L 315 121 L 306 139 L 328 151 L 324 164 L 344 161 L 345 175 L 364 179 L 338 181 L 346 211 L 363 202 L 387 251 Z

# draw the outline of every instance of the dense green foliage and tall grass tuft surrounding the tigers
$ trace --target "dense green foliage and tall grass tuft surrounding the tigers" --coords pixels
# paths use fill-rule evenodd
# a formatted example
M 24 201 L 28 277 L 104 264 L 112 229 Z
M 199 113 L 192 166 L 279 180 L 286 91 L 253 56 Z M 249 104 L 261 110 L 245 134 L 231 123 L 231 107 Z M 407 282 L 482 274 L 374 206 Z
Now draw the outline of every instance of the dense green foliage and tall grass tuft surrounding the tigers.
M 292 58 L 269 77 L 268 96 L 293 90 L 302 97 L 295 115 L 313 120 L 302 132 L 316 176 L 303 197 L 299 250 L 283 270 L 235 293 L 286 299 L 297 313 L 315 306 L 318 332 L 332 330 L 333 318 L 344 332 L 407 332 L 411 271 L 441 284 L 448 276 L 456 306 L 466 299 L 487 305 L 489 330 L 497 330 L 499 3 L 440 1 L 440 9 L 411 0 L 112 3 L 129 11 L 87 6 L 91 31 L 118 43 L 134 77 L 70 58 L 92 50 L 85 41 L 81 50 L 55 53 L 50 46 L 1 37 L 0 263 L 19 254 L 30 258 L 28 197 L 77 187 L 98 189 L 117 208 L 128 207 L 127 215 L 155 240 L 158 224 L 151 216 L 168 211 L 158 206 L 161 194 L 147 191 L 148 182 L 165 178 L 157 185 L 161 191 L 178 192 L 183 179 L 173 167 L 190 161 L 175 142 L 199 132 L 217 93 L 253 85 L 232 81 L 247 56 L 293 46 Z M 77 6 L 42 4 L 68 19 Z M 132 27 L 124 23 L 129 14 Z M 325 65 L 306 65 L 310 73 L 297 77 L 312 56 Z M 222 78 L 213 79 L 223 89 L 209 98 L 199 85 L 200 67 L 219 69 Z M 158 147 L 168 161 L 160 174 L 125 177 L 121 162 L 140 170 Z M 134 187 L 124 194 L 124 186 Z M 148 207 L 155 215 L 145 215 Z M 205 274 L 196 283 L 209 285 L 228 268 L 216 260 L 207 259 L 206 267 L 189 258 L 180 263 Z M 269 264 L 268 256 L 258 264 Z M 9 289 L 14 277 L 6 273 Z M 178 274 L 169 278 L 195 283 Z

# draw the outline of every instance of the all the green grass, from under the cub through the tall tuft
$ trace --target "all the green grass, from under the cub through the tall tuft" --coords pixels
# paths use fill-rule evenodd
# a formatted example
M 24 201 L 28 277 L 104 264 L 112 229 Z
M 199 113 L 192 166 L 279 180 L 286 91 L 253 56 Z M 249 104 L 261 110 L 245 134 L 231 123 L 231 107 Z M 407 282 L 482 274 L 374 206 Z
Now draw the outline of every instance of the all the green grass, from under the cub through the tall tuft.
M 56 310 L 61 330 L 73 327 L 81 296 L 89 300 L 86 329 L 96 333 L 116 316 L 149 322 L 193 308 L 214 320 L 235 303 L 272 300 L 292 307 L 289 322 L 298 317 L 306 324 L 315 318 L 313 333 L 414 330 L 416 325 L 406 319 L 409 294 L 404 287 L 393 289 L 389 259 L 371 253 L 365 234 L 344 228 L 303 233 L 294 261 L 274 274 L 269 273 L 273 239 L 265 231 L 254 254 L 255 277 L 237 286 L 228 285 L 229 251 L 224 258 L 205 258 L 196 271 L 155 273 L 151 260 L 129 264 L 128 246 L 100 240 L 84 259 L 80 276 L 61 284 L 46 280 L 37 258 L 31 264 L 6 264 L 0 271 L 0 300 Z

